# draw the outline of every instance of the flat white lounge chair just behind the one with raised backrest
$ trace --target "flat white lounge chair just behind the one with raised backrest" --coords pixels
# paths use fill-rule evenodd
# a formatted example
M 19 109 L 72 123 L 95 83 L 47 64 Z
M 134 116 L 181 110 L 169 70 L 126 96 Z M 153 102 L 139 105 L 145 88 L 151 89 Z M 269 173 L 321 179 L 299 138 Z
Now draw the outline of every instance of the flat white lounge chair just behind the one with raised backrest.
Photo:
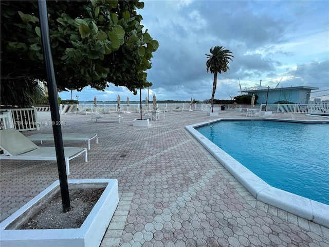
M 44 140 L 53 140 L 53 134 L 35 134 L 27 136 L 30 140 L 40 140 L 41 144 Z M 88 142 L 88 150 L 90 150 L 90 140 L 96 138 L 96 143 L 98 143 L 97 134 L 62 134 L 63 140 L 85 140 Z

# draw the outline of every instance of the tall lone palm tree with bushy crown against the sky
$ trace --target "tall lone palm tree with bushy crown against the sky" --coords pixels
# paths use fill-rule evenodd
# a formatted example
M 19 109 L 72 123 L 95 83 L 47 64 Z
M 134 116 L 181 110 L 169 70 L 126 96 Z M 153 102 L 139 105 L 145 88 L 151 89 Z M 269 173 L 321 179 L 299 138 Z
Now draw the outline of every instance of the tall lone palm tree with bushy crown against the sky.
M 214 74 L 214 83 L 212 86 L 212 96 L 211 96 L 211 104 L 212 104 L 212 112 L 214 111 L 214 96 L 217 86 L 217 73 L 222 74 L 222 72 L 226 72 L 228 67 L 229 60 L 234 58 L 229 53 L 232 53 L 230 50 L 225 50 L 223 46 L 215 46 L 214 49 L 210 49 L 210 54 L 206 54 L 207 60 L 207 72 L 211 72 Z M 232 57 L 232 58 L 231 58 Z M 232 60 L 233 61 L 233 60 Z

